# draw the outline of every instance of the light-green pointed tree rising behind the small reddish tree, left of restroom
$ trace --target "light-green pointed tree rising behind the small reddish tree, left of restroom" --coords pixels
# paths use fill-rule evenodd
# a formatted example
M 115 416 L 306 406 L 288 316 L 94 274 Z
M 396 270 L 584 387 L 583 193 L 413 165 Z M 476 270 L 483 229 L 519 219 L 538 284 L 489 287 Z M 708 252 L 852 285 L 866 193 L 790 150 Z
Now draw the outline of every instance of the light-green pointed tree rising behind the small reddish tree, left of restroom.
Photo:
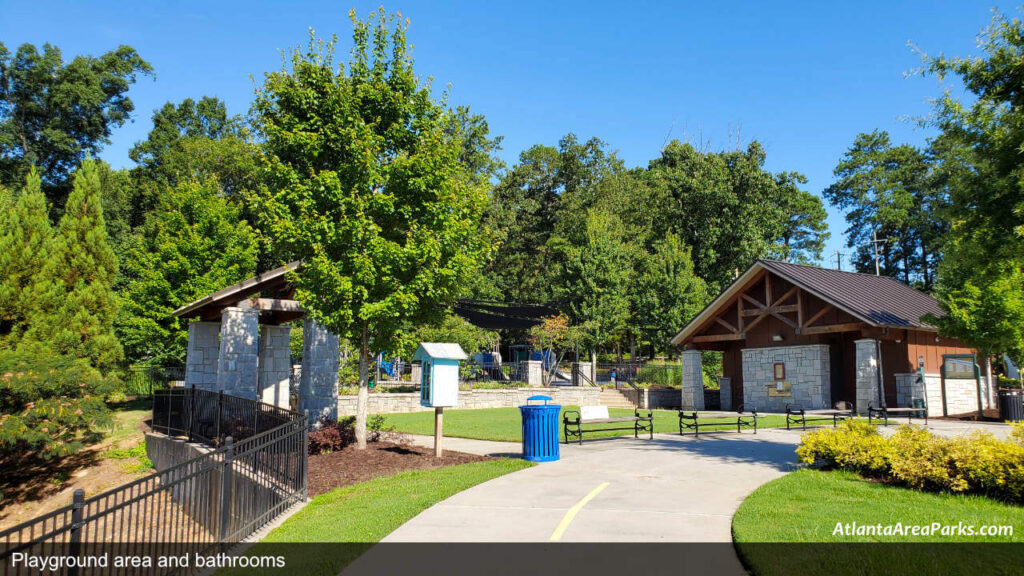
M 623 238 L 622 221 L 597 209 L 584 230 L 550 241 L 555 261 L 555 298 L 591 346 L 597 348 L 626 327 L 635 249 Z

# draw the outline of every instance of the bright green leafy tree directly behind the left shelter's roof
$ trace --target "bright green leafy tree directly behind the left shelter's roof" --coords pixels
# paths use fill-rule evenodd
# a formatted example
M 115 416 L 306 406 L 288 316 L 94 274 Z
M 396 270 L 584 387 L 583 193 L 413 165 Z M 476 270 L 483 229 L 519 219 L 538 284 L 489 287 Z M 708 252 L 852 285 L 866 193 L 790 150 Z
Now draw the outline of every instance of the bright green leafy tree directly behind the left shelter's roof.
M 187 327 L 171 313 L 252 277 L 258 244 L 212 178 L 167 189 L 163 199 L 129 240 L 116 324 L 127 359 L 158 366 L 185 360 Z

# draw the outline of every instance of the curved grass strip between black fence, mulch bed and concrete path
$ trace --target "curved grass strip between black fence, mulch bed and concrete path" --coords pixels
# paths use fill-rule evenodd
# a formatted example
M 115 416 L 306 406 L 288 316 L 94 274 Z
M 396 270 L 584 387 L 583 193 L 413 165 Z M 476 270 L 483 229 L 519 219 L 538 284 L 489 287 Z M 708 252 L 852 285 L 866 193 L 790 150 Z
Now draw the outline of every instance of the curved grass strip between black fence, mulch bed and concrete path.
M 432 470 L 406 471 L 337 488 L 314 497 L 246 553 L 310 551 L 279 547 L 278 543 L 344 543 L 318 546 L 316 553 L 288 557 L 290 574 L 337 574 L 374 542 L 437 502 L 482 482 L 532 465 L 525 460 L 499 458 Z

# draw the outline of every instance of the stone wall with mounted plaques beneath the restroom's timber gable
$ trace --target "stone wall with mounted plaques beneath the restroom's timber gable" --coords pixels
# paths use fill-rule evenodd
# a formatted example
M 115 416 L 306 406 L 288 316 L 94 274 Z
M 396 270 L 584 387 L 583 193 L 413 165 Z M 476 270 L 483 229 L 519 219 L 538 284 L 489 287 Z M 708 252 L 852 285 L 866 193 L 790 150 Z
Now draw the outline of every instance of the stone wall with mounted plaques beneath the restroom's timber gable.
M 762 412 L 784 412 L 786 404 L 800 404 L 805 410 L 829 407 L 831 390 L 827 345 L 744 348 L 741 354 L 745 404 L 753 404 Z M 791 396 L 768 394 L 768 387 L 775 385 L 776 363 L 785 365 L 785 381 L 790 382 Z

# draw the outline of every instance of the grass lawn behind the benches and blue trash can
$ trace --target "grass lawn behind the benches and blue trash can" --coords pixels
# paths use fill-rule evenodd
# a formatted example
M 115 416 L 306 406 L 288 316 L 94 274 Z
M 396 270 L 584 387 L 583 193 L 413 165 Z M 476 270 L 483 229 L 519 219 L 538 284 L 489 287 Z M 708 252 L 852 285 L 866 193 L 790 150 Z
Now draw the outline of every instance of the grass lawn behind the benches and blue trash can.
M 563 406 L 565 410 L 578 410 L 575 406 Z M 679 412 L 675 410 L 654 410 L 654 431 L 679 434 Z M 641 413 L 646 414 L 645 410 Z M 609 408 L 608 414 L 615 416 L 632 416 L 633 411 L 624 408 Z M 410 412 L 406 414 L 385 414 L 385 426 L 394 426 L 398 431 L 406 434 L 432 435 L 434 434 L 434 413 L 433 412 Z M 758 427 L 778 427 L 785 425 L 785 416 L 771 415 L 758 418 Z M 721 426 L 708 426 L 709 430 L 714 429 L 736 429 L 735 421 Z M 705 425 L 701 423 L 700 431 L 703 434 Z M 744 428 L 744 431 L 750 433 Z M 561 424 L 558 426 L 559 435 L 562 434 Z M 690 433 L 687 433 L 690 434 Z M 632 436 L 633 430 L 611 430 L 602 433 L 585 433 L 584 439 L 608 437 L 608 436 Z M 445 410 L 444 411 L 444 436 L 455 438 L 471 438 L 475 440 L 495 440 L 503 442 L 522 441 L 522 417 L 518 408 L 484 408 L 480 410 Z

